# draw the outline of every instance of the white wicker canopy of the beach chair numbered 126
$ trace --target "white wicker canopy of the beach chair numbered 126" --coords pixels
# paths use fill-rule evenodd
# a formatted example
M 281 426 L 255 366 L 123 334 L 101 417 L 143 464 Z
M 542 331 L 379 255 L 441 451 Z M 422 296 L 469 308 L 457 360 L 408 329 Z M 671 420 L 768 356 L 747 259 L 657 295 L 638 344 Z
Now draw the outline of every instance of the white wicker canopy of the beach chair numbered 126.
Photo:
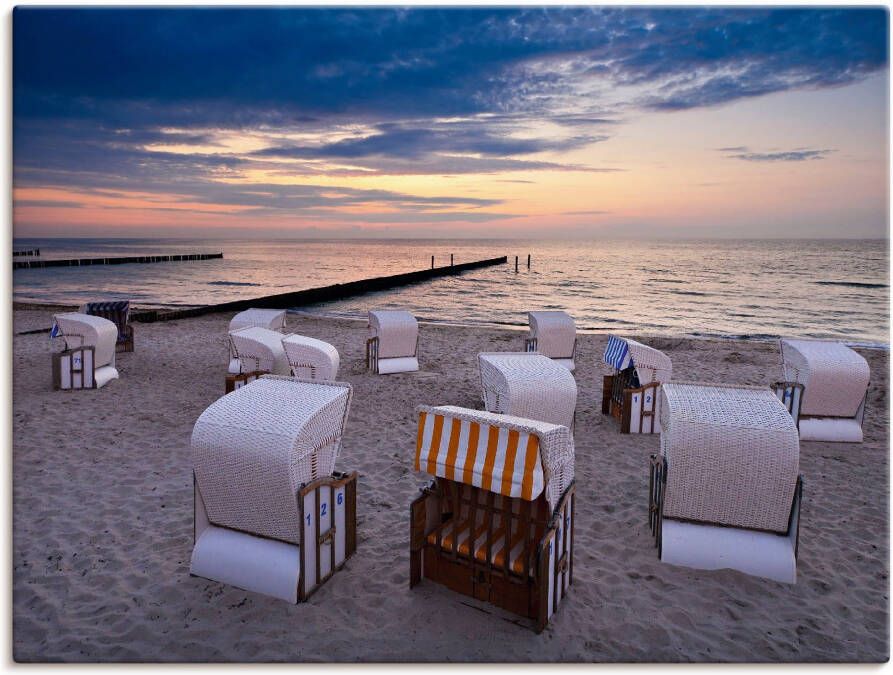
M 212 403 L 192 431 L 192 466 L 208 519 L 300 543 L 297 493 L 330 476 L 351 387 L 265 375 Z

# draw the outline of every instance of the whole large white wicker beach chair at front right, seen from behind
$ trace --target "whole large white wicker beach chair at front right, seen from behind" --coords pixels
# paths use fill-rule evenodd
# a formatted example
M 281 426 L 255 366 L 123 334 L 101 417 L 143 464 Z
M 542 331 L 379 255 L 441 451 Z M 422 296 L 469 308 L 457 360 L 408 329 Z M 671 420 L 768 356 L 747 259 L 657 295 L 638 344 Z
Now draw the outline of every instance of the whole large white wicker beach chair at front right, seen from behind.
M 661 387 L 649 523 L 658 557 L 793 584 L 803 481 L 797 428 L 768 387 Z

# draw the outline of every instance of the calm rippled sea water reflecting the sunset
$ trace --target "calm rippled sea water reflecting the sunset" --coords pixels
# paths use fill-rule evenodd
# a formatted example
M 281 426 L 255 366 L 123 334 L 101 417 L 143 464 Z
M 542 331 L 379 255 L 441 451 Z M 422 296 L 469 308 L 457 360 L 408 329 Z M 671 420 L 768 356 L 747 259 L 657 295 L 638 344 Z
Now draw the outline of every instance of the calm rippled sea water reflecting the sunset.
M 507 255 L 509 265 L 303 309 L 362 316 L 400 307 L 420 318 L 502 325 L 526 324 L 530 309 L 564 309 L 595 332 L 889 343 L 887 240 L 14 242 L 32 247 L 44 258 L 219 251 L 224 258 L 16 270 L 16 301 L 199 305 L 424 269 L 432 255 L 438 265 L 451 253 L 457 263 Z

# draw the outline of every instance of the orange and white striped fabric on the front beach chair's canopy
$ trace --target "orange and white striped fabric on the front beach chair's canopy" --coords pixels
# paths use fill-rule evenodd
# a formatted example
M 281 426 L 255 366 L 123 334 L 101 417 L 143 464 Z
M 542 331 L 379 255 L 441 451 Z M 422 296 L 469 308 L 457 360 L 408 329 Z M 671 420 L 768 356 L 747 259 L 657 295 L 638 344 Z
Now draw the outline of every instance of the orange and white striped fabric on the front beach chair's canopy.
M 528 501 L 545 486 L 535 434 L 424 410 L 419 413 L 415 468 Z

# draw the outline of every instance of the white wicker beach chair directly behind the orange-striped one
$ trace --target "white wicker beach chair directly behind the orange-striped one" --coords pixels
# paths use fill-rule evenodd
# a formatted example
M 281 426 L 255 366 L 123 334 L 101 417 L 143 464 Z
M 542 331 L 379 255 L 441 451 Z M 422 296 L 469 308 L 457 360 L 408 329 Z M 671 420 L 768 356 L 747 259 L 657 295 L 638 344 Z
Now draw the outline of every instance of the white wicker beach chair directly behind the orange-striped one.
M 478 354 L 481 395 L 490 412 L 574 429 L 577 383 L 570 371 L 542 354 Z

